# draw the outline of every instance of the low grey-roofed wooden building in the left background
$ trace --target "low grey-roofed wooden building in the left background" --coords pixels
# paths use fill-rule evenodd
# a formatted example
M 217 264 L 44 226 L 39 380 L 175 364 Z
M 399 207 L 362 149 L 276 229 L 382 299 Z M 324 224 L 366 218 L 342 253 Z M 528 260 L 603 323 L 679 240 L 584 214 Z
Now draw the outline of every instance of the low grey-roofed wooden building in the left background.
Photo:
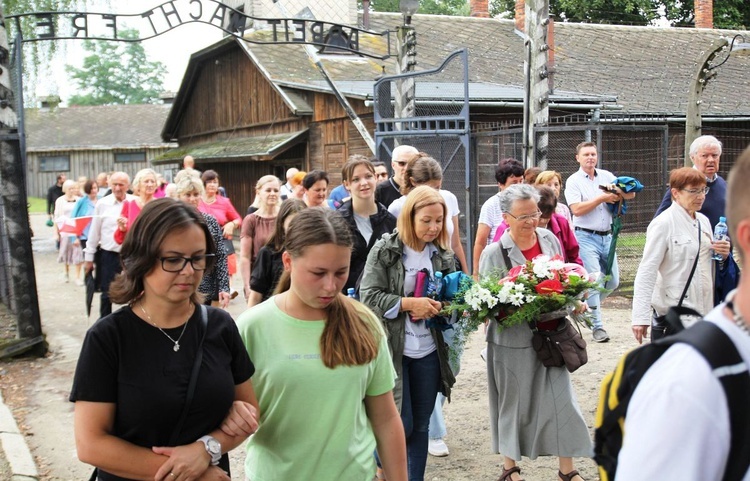
M 58 173 L 96 178 L 121 170 L 131 178 L 176 146 L 159 132 L 169 105 L 26 109 L 26 189 L 46 197 Z

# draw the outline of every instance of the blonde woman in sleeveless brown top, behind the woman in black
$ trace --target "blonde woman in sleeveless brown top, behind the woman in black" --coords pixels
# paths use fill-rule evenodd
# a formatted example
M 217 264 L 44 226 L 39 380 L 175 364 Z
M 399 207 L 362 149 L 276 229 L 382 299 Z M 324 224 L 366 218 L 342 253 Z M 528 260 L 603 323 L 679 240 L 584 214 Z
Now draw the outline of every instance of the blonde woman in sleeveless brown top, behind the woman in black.
M 275 175 L 264 175 L 255 184 L 258 210 L 245 216 L 240 231 L 240 272 L 245 300 L 250 296 L 250 273 L 260 248 L 266 245 L 276 226 L 281 207 L 281 181 Z

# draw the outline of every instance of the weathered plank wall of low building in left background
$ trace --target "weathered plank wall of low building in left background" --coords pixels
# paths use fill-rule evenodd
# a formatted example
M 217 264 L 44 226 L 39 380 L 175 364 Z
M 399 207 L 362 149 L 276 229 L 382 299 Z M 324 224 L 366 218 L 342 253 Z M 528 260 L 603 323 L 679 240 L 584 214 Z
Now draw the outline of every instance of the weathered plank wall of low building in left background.
M 142 152 L 146 150 L 145 162 L 115 162 L 114 150 L 63 150 L 26 153 L 26 194 L 30 197 L 47 197 L 47 190 L 55 183 L 58 172 L 40 172 L 39 158 L 57 155 L 70 157 L 70 170 L 63 172 L 68 179 L 86 176 L 96 178 L 99 172 L 121 170 L 132 179 L 136 172 L 146 167 L 153 167 L 151 159 L 163 154 L 168 148 L 158 149 L 118 149 L 117 152 Z M 153 167 L 156 172 L 165 170 L 164 166 Z

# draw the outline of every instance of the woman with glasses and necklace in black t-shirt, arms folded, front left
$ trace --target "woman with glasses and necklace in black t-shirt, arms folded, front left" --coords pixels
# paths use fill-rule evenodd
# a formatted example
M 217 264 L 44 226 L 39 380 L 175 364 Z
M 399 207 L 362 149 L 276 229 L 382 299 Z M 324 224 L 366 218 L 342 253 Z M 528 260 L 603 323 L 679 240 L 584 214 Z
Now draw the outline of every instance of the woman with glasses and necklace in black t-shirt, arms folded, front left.
M 98 480 L 229 481 L 226 453 L 257 427 L 254 367 L 237 327 L 197 291 L 215 250 L 200 213 L 175 199 L 149 202 L 129 229 L 110 287 L 127 305 L 89 329 L 70 394 L 78 458 Z M 246 435 L 223 432 L 222 421 Z

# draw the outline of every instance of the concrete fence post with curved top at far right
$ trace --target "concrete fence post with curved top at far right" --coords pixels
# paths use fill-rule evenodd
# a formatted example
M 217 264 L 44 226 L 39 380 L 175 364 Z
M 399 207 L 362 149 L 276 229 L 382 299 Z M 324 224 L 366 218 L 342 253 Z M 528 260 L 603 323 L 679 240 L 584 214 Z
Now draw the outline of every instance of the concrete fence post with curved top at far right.
M 742 39 L 737 43 L 738 39 Z M 718 68 L 729 60 L 733 52 L 750 50 L 750 43 L 745 42 L 742 35 L 735 35 L 730 43 L 726 38 L 714 40 L 710 48 L 701 52 L 701 57 L 695 64 L 697 70 L 692 82 L 690 83 L 690 92 L 688 93 L 687 112 L 685 113 L 685 166 L 691 167 L 693 161 L 690 159 L 690 144 L 700 137 L 703 123 L 701 119 L 701 106 L 703 100 L 701 96 L 706 84 L 716 77 L 719 73 Z M 721 52 L 726 52 L 726 57 L 720 63 L 711 65 L 711 61 Z

